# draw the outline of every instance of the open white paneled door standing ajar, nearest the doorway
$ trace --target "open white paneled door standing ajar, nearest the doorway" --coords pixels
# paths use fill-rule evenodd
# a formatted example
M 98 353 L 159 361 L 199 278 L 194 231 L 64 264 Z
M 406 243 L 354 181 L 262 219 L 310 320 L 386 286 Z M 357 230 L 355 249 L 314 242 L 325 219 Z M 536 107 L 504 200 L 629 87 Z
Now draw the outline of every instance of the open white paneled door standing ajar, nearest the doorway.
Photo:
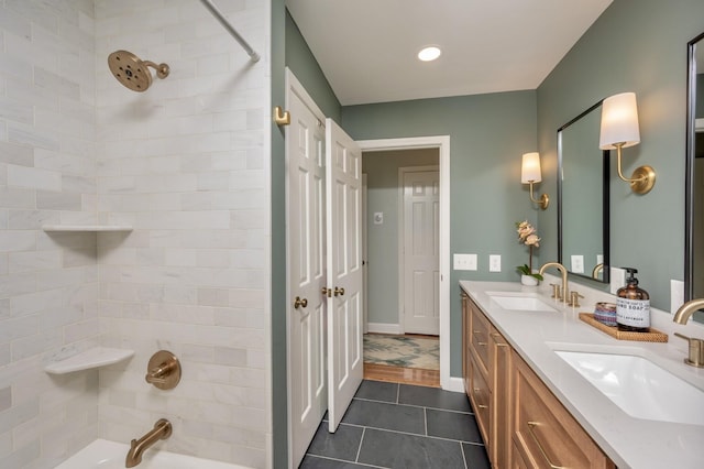
M 362 353 L 362 152 L 326 122 L 328 429 L 338 428 L 364 372 Z

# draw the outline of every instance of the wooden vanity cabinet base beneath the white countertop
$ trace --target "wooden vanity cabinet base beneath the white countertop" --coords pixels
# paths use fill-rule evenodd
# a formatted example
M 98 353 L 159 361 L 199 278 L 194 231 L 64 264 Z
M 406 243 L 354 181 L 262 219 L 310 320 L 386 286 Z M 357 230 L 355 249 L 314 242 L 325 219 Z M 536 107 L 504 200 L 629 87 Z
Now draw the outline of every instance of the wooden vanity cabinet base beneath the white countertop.
M 615 467 L 464 293 L 462 372 L 493 468 Z

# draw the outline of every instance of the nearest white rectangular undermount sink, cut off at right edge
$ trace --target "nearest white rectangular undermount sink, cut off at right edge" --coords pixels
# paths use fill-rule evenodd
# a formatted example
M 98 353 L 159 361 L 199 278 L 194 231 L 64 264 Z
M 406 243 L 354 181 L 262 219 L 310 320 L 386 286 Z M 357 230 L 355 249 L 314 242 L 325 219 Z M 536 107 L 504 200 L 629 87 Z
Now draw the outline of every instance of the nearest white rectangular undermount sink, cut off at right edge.
M 642 357 L 556 353 L 631 417 L 704 425 L 704 391 Z

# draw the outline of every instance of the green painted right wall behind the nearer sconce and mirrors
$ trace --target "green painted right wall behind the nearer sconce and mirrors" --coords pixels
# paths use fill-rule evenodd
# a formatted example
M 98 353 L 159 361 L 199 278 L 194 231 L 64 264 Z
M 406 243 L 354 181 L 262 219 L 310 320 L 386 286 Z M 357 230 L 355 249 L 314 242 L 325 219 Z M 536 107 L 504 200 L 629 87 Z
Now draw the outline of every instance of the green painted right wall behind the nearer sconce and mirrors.
M 615 0 L 538 88 L 542 188 L 550 194 L 557 129 L 600 99 L 636 92 L 641 143 L 624 150 L 624 173 L 649 164 L 657 184 L 638 196 L 612 177 L 612 264 L 637 268 L 651 304 L 666 310 L 670 279 L 684 275 L 686 43 L 702 31 L 702 0 Z M 540 214 L 539 225 L 542 254 L 556 257 L 556 212 Z

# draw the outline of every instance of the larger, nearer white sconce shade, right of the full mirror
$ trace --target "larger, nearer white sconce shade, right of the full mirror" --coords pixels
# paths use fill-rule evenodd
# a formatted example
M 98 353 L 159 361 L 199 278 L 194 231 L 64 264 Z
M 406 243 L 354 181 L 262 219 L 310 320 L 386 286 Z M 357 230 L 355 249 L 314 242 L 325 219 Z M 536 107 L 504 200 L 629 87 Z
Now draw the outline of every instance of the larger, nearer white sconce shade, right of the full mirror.
M 640 143 L 638 106 L 635 92 L 622 92 L 604 99 L 598 148 L 615 150 L 618 143 L 628 148 Z

